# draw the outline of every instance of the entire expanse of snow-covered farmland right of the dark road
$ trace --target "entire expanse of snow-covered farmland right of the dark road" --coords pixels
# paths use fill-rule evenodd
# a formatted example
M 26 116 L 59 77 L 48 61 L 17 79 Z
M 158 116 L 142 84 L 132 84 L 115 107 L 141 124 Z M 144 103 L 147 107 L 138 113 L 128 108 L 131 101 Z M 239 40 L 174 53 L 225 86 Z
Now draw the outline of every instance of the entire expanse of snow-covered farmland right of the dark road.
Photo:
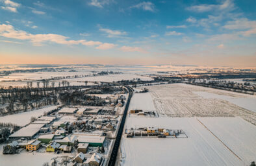
M 134 94 L 129 110 L 156 108 L 161 116 L 159 118 L 127 117 L 125 128 L 154 126 L 179 129 L 183 130 L 188 138 L 123 136 L 121 165 L 250 165 L 251 161 L 256 160 L 256 126 L 244 121 L 244 117 L 254 115 L 255 112 L 225 101 L 227 97 L 235 99 L 241 97 L 246 100 L 253 99 L 253 96 L 186 84 L 147 88 L 149 93 Z M 199 91 L 217 97 L 203 99 Z M 221 97 L 224 95 L 225 98 L 220 98 L 218 95 Z M 174 109 L 181 117 L 169 117 L 171 115 L 168 113 Z M 239 115 L 236 114 L 238 110 L 245 113 L 240 115 L 243 119 L 227 117 Z M 194 112 L 201 114 L 199 117 L 196 115 L 191 117 Z M 224 117 L 216 117 L 218 113 Z M 202 117 L 203 115 L 211 115 L 211 117 Z

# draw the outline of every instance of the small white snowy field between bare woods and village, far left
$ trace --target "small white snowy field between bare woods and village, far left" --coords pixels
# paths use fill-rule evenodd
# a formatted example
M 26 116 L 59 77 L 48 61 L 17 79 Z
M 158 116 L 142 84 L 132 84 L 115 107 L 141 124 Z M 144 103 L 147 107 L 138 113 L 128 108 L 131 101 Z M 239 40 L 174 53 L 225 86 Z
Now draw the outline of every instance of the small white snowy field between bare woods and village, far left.
M 41 108 L 38 110 L 32 110 L 29 112 L 17 113 L 14 115 L 6 115 L 0 117 L 0 122 L 3 123 L 14 123 L 19 126 L 27 125 L 31 121 L 31 117 L 39 117 L 40 115 L 44 115 L 44 112 L 49 112 L 51 110 L 56 109 L 58 106 L 47 106 L 45 108 Z

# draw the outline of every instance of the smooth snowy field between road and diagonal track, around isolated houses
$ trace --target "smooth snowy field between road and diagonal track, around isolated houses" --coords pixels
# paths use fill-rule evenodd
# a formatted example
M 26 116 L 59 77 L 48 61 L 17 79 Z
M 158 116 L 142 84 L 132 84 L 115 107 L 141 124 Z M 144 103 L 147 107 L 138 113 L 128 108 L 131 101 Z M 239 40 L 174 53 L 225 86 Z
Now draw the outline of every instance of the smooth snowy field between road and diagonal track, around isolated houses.
M 126 138 L 121 143 L 122 165 L 244 165 L 195 117 L 129 117 L 125 128 L 182 128 L 188 138 Z

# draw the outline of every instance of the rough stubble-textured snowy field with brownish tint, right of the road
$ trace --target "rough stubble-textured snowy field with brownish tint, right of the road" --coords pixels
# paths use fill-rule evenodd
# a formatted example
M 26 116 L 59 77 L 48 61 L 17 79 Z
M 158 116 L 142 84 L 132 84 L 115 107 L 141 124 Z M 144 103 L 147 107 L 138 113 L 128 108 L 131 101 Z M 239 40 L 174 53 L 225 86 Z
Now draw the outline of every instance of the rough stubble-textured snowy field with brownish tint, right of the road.
M 253 125 L 256 125 L 256 113 L 237 104 L 225 101 L 222 98 L 202 98 L 196 91 L 207 91 L 207 93 L 216 93 L 236 99 L 248 99 L 249 95 L 237 94 L 233 92 L 211 88 L 201 88 L 187 84 L 166 84 L 147 87 L 155 108 L 160 116 L 169 117 L 229 117 L 240 116 Z M 253 96 L 252 96 L 253 97 Z

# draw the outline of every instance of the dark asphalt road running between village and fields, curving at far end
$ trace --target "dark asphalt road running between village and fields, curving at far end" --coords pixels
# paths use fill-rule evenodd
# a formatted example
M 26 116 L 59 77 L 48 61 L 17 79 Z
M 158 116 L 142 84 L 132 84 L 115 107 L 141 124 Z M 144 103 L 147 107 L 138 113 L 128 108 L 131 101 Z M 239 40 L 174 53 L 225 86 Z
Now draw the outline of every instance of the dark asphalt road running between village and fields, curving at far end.
M 127 99 L 127 103 L 125 105 L 125 110 L 123 111 L 123 117 L 120 123 L 120 127 L 118 130 L 118 135 L 116 136 L 116 141 L 114 142 L 114 147 L 112 148 L 112 153 L 109 159 L 109 166 L 114 166 L 116 163 L 116 156 L 118 156 L 118 149 L 120 147 L 120 141 L 122 138 L 122 134 L 123 134 L 123 127 L 125 126 L 125 119 L 127 116 L 127 112 L 128 112 L 128 108 L 129 108 L 129 104 L 131 101 L 131 97 L 133 96 L 133 89 L 129 86 L 125 86 L 125 88 L 128 89 L 129 91 L 129 97 Z

